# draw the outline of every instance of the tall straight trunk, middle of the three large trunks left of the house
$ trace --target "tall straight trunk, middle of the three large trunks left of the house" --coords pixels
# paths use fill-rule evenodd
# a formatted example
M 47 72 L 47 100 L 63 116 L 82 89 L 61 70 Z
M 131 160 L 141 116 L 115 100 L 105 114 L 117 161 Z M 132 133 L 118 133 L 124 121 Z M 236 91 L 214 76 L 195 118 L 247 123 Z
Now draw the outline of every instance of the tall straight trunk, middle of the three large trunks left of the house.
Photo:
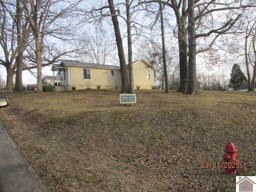
M 22 15 L 22 9 L 20 6 L 20 0 L 17 0 L 17 14 L 16 14 L 16 25 L 17 25 L 17 45 L 18 45 L 18 54 L 16 56 L 16 81 L 15 81 L 15 88 L 14 91 L 21 92 L 23 91 L 22 87 L 22 64 L 23 64 L 23 53 L 20 48 L 22 46 L 22 30 L 21 30 L 21 15 Z

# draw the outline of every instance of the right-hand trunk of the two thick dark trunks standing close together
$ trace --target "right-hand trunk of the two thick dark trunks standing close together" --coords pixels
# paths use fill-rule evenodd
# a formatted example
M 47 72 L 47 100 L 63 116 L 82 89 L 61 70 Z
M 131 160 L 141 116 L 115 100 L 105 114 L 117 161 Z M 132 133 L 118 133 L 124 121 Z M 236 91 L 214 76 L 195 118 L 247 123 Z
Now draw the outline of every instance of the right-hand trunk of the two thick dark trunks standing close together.
M 199 94 L 196 79 L 196 32 L 194 0 L 188 0 L 188 94 Z

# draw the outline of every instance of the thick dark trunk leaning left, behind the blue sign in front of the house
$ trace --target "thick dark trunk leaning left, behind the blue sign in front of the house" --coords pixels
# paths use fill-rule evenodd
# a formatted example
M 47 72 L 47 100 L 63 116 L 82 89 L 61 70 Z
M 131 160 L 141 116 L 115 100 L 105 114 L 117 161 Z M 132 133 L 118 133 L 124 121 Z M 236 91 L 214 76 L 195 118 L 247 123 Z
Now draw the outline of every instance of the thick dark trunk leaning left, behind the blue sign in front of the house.
M 108 0 L 108 5 L 110 8 L 111 18 L 114 25 L 116 45 L 118 49 L 118 57 L 119 57 L 120 68 L 121 68 L 121 81 L 122 81 L 121 93 L 124 93 L 128 91 L 128 87 L 127 87 L 127 72 L 126 72 L 123 42 L 120 34 L 120 28 L 119 28 L 118 19 L 116 16 L 116 11 L 114 10 L 113 0 Z

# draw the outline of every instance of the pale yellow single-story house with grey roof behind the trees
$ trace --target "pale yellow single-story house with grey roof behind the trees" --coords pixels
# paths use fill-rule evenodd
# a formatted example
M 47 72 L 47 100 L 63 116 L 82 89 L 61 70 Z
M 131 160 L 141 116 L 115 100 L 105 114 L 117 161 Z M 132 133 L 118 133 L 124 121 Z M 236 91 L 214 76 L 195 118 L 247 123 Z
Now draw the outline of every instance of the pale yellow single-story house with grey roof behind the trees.
M 128 65 L 127 76 L 128 76 Z M 56 81 L 60 80 L 60 86 L 55 86 L 56 91 L 92 88 L 121 88 L 120 66 L 84 63 L 78 61 L 62 60 L 60 64 L 52 66 L 53 76 L 59 74 Z M 140 89 L 152 89 L 154 86 L 154 66 L 141 59 L 133 62 L 134 86 Z M 54 82 L 56 82 L 54 80 Z

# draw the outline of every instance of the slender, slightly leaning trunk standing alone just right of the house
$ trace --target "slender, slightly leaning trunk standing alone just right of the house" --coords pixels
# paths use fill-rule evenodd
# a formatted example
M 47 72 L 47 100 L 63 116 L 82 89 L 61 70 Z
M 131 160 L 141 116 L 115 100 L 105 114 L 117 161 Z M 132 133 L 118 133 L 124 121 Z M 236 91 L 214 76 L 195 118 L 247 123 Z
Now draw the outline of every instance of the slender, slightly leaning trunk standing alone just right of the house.
M 164 19 L 163 19 L 163 11 L 162 11 L 162 0 L 160 0 L 159 6 L 160 6 L 160 17 L 161 17 L 165 92 L 169 93 L 169 82 L 168 82 L 169 79 L 168 79 L 168 71 L 167 71 L 167 64 L 166 64 L 166 49 L 165 49 L 165 39 L 164 39 Z

